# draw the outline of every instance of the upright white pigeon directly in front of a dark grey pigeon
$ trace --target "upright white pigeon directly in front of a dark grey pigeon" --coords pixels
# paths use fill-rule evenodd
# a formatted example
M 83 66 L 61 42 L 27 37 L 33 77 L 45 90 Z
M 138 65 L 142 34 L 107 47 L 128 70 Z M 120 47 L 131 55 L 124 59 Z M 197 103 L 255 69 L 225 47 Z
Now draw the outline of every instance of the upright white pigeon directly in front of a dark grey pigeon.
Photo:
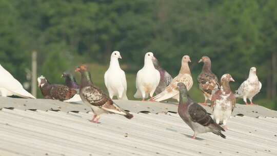
M 160 82 L 160 72 L 155 69 L 152 59 L 154 59 L 152 52 L 147 52 L 144 57 L 144 66 L 136 74 L 135 86 L 136 93 L 134 94 L 135 98 L 142 98 L 143 101 L 145 98 L 153 96 L 156 87 Z

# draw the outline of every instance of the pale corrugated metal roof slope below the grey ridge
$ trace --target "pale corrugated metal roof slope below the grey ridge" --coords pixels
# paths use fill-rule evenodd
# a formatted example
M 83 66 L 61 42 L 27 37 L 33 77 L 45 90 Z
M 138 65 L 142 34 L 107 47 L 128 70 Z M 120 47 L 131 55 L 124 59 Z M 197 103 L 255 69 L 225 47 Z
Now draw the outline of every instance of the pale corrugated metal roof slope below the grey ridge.
M 133 104 L 128 103 L 129 107 Z M 193 131 L 178 114 L 133 115 L 128 120 L 121 115 L 103 114 L 101 123 L 95 124 L 89 122 L 92 114 L 82 111 L 2 108 L 0 155 L 277 154 L 277 118 L 232 116 L 228 121 L 230 130 L 223 132 L 227 139 L 205 133 L 193 140 Z

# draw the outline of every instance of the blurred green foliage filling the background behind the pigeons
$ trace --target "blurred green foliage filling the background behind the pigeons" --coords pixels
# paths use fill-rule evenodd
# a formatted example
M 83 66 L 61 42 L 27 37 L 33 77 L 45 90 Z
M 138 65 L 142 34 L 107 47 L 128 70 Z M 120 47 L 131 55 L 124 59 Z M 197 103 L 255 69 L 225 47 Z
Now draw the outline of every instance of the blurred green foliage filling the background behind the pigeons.
M 105 89 L 110 53 L 118 50 L 133 99 L 135 74 L 146 52 L 154 52 L 173 76 L 188 54 L 194 80 L 190 92 L 201 102 L 196 77 L 202 64 L 197 61 L 207 55 L 219 78 L 227 72 L 234 77 L 232 90 L 250 67 L 257 67 L 263 88 L 254 102 L 277 109 L 276 100 L 267 98 L 268 77 L 276 74 L 270 65 L 277 52 L 276 8 L 275 0 L 0 0 L 0 63 L 26 82 L 25 69 L 31 68 L 36 50 L 38 74 L 50 82 L 62 83 L 63 71 L 88 63 L 93 81 Z

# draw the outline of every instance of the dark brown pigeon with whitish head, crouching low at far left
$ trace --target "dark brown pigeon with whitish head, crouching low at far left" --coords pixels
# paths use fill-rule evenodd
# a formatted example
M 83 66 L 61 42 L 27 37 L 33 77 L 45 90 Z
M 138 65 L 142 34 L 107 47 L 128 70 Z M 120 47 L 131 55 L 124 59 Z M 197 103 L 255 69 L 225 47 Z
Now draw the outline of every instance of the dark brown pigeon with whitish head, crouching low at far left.
M 65 85 L 49 83 L 43 75 L 37 78 L 37 82 L 45 99 L 65 101 L 71 99 L 76 94 L 76 90 Z

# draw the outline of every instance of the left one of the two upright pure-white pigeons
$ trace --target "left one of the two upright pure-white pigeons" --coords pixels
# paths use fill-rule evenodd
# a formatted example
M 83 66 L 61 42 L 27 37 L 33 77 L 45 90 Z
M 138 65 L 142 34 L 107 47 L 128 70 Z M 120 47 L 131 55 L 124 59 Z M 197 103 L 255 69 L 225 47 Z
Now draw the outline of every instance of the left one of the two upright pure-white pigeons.
M 113 51 L 109 69 L 105 72 L 104 80 L 110 98 L 115 95 L 119 100 L 128 100 L 126 95 L 127 81 L 125 72 L 120 68 L 118 58 L 122 59 L 119 51 Z

